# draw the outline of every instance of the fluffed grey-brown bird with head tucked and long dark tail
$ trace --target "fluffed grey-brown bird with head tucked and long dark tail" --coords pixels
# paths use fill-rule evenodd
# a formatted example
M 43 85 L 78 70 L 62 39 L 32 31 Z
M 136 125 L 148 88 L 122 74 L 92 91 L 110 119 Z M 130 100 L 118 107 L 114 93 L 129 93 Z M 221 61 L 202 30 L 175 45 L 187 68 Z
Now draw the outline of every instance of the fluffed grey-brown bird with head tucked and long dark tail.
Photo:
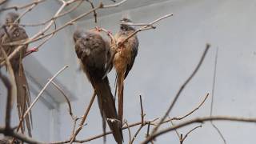
M 118 121 L 109 80 L 107 77 L 102 78 L 106 73 L 106 62 L 110 58 L 110 44 L 103 40 L 97 32 L 76 30 L 73 38 L 76 54 L 82 62 L 82 70 L 86 73 L 98 96 L 98 106 L 102 114 L 104 131 L 107 121 L 115 141 L 121 144 L 123 139 L 122 125 Z

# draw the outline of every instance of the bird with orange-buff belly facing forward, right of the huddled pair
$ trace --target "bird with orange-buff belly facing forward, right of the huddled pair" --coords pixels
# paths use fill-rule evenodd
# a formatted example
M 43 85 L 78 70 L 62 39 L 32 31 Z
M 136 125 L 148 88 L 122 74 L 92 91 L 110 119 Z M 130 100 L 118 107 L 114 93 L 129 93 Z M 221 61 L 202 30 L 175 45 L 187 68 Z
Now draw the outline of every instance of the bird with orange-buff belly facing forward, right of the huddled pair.
M 134 66 L 134 60 L 138 54 L 138 38 L 136 34 L 129 38 L 122 45 L 119 45 L 135 31 L 134 26 L 126 25 L 127 23 L 131 23 L 131 20 L 128 18 L 122 18 L 120 30 L 114 36 L 118 45 L 118 52 L 114 55 L 113 64 L 117 72 L 118 116 L 121 122 L 123 116 L 124 79 L 127 77 L 130 70 Z

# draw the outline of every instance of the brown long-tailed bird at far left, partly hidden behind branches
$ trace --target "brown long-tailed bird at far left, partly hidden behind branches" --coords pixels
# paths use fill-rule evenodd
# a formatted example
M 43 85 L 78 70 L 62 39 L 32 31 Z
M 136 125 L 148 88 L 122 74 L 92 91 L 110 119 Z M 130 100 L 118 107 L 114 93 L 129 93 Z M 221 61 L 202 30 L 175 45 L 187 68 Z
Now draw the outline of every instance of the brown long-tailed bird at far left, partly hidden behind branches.
M 2 45 L 3 50 L 6 51 L 7 55 L 10 55 L 18 46 L 4 46 L 3 44 L 8 42 L 18 42 L 25 40 L 28 38 L 26 31 L 22 29 L 22 27 L 18 26 L 18 22 L 15 22 L 18 18 L 18 14 L 16 13 L 8 13 L 6 15 L 6 23 L 0 29 L 0 44 Z M 10 60 L 11 66 L 14 70 L 15 82 L 17 85 L 17 107 L 18 107 L 18 117 L 22 118 L 22 114 L 25 113 L 28 106 L 30 106 L 30 90 L 26 81 L 26 75 L 22 66 L 22 58 L 24 58 L 26 54 L 27 45 L 22 47 L 22 50 L 19 51 L 17 55 L 14 56 Z M 0 51 L 0 63 L 4 61 L 3 55 Z M 21 130 L 22 133 L 25 131 L 25 123 L 26 128 L 28 130 L 28 134 L 31 136 L 31 125 L 32 125 L 32 116 L 31 113 L 28 114 L 25 118 L 25 122 L 23 121 Z

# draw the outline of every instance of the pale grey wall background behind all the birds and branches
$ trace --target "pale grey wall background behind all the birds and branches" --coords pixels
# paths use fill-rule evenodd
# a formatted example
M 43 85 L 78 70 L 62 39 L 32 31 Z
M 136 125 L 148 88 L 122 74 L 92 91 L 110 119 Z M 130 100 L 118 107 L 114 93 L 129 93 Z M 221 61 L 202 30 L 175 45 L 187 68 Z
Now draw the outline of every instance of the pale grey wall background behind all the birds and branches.
M 119 2 L 120 0 L 118 0 Z M 6 6 L 24 5 L 29 0 L 13 0 Z M 100 2 L 94 0 L 95 6 Z M 104 3 L 113 3 L 103 1 Z M 58 1 L 47 1 L 22 18 L 22 24 L 44 22 L 51 18 L 61 6 Z M 128 123 L 140 121 L 139 94 L 142 94 L 146 119 L 161 117 L 177 93 L 179 86 L 189 77 L 197 65 L 206 42 L 211 44 L 205 62 L 198 74 L 189 83 L 171 111 L 170 117 L 187 114 L 202 101 L 206 93 L 212 91 L 214 77 L 214 58 L 218 48 L 217 79 L 214 95 L 214 115 L 231 115 L 254 118 L 256 114 L 256 1 L 254 0 L 128 0 L 113 9 L 98 10 L 98 23 L 94 23 L 93 14 L 83 18 L 74 26 L 69 26 L 51 38 L 37 53 L 24 59 L 26 75 L 29 78 L 32 98 L 62 66 L 70 67 L 56 80 L 72 101 L 74 114 L 81 116 L 93 94 L 90 82 L 78 70 L 77 57 L 74 53 L 72 35 L 75 29 L 91 29 L 102 26 L 116 33 L 119 19 L 123 14 L 130 15 L 134 22 L 152 22 L 165 14 L 174 13 L 172 18 L 156 24 L 157 29 L 138 34 L 139 51 L 134 68 L 125 81 L 124 118 Z M 90 10 L 88 3 L 75 12 L 60 18 L 57 26 L 68 22 Z M 1 13 L 1 23 L 5 13 Z M 26 27 L 32 36 L 43 26 Z M 36 43 L 30 44 L 30 48 Z M 6 69 L 2 68 L 2 72 Z M 109 74 L 114 91 L 114 70 Z M 211 98 L 211 97 L 210 97 Z M 210 114 L 210 98 L 192 116 L 184 120 Z M 0 82 L 0 125 L 4 125 L 6 90 Z M 13 110 L 13 124 L 18 122 L 16 107 Z M 50 142 L 66 140 L 70 137 L 72 120 L 66 102 L 58 90 L 49 86 L 32 109 L 33 136 L 38 140 Z M 16 119 L 15 119 L 16 118 Z M 87 126 L 78 134 L 78 139 L 102 134 L 102 119 L 98 103 L 94 102 L 86 119 Z M 178 123 L 178 122 L 174 122 Z M 215 122 L 227 143 L 253 143 L 256 126 L 238 122 Z M 16 126 L 16 125 L 14 125 Z M 170 123 L 164 125 L 170 126 Z M 164 127 L 162 126 L 162 127 Z M 198 126 L 198 125 L 194 125 Z M 194 127 L 186 126 L 179 132 L 186 132 Z M 132 134 L 138 129 L 132 128 Z M 127 130 L 123 130 L 125 143 L 129 142 Z M 142 142 L 146 126 L 136 138 Z M 1 137 L 1 136 L 0 136 Z M 89 143 L 102 143 L 102 138 Z M 107 143 L 114 143 L 112 135 L 107 136 Z M 178 143 L 174 132 L 162 135 L 155 143 Z M 186 138 L 185 143 L 215 144 L 222 139 L 210 125 L 204 123 Z

